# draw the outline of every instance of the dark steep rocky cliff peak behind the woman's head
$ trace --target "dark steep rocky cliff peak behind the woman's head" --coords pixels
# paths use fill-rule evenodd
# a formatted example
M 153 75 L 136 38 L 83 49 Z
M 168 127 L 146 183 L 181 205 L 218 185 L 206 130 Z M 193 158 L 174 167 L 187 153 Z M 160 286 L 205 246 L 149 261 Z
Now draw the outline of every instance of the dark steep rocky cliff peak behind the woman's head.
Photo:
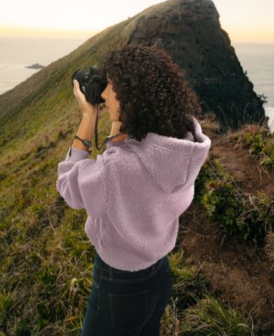
M 186 71 L 203 113 L 213 112 L 222 131 L 228 126 L 236 130 L 241 122 L 267 121 L 262 101 L 245 75 L 227 32 L 220 27 L 213 1 L 169 0 L 142 14 L 129 44 L 167 50 Z

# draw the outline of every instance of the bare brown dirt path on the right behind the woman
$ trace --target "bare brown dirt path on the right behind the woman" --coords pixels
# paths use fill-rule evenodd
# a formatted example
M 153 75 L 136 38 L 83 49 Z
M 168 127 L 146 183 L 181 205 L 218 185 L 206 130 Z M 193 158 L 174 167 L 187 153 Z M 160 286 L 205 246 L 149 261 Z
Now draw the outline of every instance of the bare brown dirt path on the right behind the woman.
M 249 155 L 248 150 L 235 150 L 225 136 L 206 129 L 204 133 L 212 140 L 209 155 L 220 159 L 242 191 L 261 191 L 273 198 L 273 175 L 259 167 L 256 155 Z M 198 266 L 205 262 L 201 272 L 218 293 L 220 302 L 251 313 L 254 324 L 264 330 L 260 335 L 274 335 L 274 265 L 270 272 L 263 248 L 244 247 L 237 237 L 225 239 L 221 246 L 218 223 L 207 220 L 204 209 L 193 203 L 180 217 L 177 241 L 180 244 L 175 250 L 183 248 L 184 256 Z

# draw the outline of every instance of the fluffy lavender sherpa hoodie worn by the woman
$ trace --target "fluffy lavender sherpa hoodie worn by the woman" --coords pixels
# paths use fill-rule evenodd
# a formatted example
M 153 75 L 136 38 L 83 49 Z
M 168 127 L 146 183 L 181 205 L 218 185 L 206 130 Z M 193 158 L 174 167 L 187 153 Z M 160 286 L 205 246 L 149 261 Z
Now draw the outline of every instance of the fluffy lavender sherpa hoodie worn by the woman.
M 96 159 L 72 148 L 58 164 L 56 188 L 71 208 L 85 208 L 85 232 L 108 265 L 138 271 L 174 248 L 211 145 L 193 119 L 184 139 L 149 132 L 141 142 L 110 141 Z

